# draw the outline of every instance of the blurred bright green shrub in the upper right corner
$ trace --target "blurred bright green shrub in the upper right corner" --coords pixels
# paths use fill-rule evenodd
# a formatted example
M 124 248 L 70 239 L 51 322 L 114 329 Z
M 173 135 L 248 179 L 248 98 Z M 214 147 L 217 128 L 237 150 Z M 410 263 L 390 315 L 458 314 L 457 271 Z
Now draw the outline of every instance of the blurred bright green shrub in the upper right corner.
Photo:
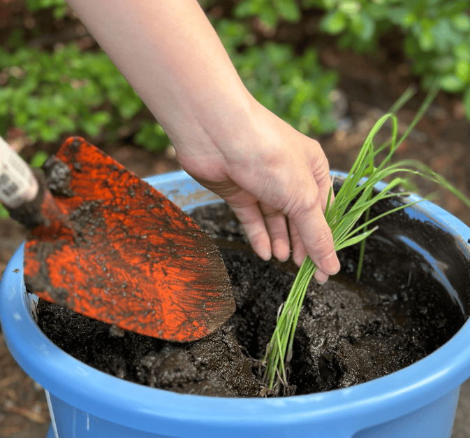
M 288 4 L 287 4 L 288 3 Z M 462 93 L 470 120 L 470 4 L 467 0 L 242 0 L 237 17 L 257 16 L 267 27 L 298 22 L 309 8 L 325 11 L 321 31 L 343 48 L 372 52 L 393 27 L 404 35 L 413 72 L 429 89 Z

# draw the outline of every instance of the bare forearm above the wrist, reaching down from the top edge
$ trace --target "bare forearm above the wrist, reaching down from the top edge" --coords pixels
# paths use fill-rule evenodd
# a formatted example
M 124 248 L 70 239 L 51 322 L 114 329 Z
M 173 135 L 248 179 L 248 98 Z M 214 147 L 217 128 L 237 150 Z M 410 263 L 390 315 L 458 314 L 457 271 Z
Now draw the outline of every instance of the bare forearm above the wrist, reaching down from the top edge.
M 177 150 L 237 135 L 254 99 L 196 0 L 68 0 Z

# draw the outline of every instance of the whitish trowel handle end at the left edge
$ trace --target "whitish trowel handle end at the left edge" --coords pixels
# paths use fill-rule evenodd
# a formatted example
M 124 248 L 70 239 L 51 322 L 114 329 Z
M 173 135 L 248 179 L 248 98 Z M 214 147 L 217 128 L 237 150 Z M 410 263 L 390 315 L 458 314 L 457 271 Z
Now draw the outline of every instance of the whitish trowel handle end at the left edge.
M 17 209 L 38 193 L 38 182 L 28 164 L 0 137 L 0 202 Z

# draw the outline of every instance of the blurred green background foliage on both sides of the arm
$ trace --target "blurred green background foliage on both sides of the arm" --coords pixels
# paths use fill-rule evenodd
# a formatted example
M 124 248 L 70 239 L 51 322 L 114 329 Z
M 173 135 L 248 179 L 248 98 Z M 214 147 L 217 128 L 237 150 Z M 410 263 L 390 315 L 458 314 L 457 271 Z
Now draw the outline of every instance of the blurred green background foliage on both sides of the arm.
M 25 0 L 33 13 L 48 10 L 67 20 L 64 0 Z M 200 0 L 210 10 L 216 0 Z M 461 93 L 470 118 L 470 17 L 467 0 L 232 0 L 229 16 L 210 18 L 248 89 L 262 104 L 304 134 L 335 129 L 330 93 L 337 73 L 325 71 L 311 47 L 301 52 L 255 35 L 256 22 L 275 32 L 279 23 L 298 23 L 316 10 L 318 31 L 337 44 L 373 53 L 390 29 L 403 34 L 403 51 L 424 88 L 433 80 Z M 227 14 L 226 14 L 227 15 Z M 108 57 L 75 42 L 36 48 L 22 29 L 0 49 L 0 134 L 8 127 L 31 141 L 59 141 L 68 134 L 91 140 L 125 132 L 133 143 L 163 150 L 163 129 Z M 37 160 L 36 160 L 37 161 Z

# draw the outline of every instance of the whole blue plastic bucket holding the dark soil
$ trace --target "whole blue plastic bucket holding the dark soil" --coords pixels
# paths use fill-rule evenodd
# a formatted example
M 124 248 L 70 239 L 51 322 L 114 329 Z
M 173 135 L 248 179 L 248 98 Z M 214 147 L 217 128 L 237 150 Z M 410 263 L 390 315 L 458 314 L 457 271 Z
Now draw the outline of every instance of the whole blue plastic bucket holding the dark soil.
M 182 171 L 147 181 L 186 211 L 220 202 Z M 470 229 L 460 220 L 429 202 L 407 211 L 448 230 L 470 258 Z M 450 437 L 460 385 L 470 376 L 470 321 L 426 358 L 350 388 L 270 399 L 182 395 L 110 376 L 52 344 L 31 315 L 22 254 L 20 247 L 3 274 L 0 318 L 13 357 L 50 400 L 48 438 Z M 468 286 L 460 292 L 470 294 Z

